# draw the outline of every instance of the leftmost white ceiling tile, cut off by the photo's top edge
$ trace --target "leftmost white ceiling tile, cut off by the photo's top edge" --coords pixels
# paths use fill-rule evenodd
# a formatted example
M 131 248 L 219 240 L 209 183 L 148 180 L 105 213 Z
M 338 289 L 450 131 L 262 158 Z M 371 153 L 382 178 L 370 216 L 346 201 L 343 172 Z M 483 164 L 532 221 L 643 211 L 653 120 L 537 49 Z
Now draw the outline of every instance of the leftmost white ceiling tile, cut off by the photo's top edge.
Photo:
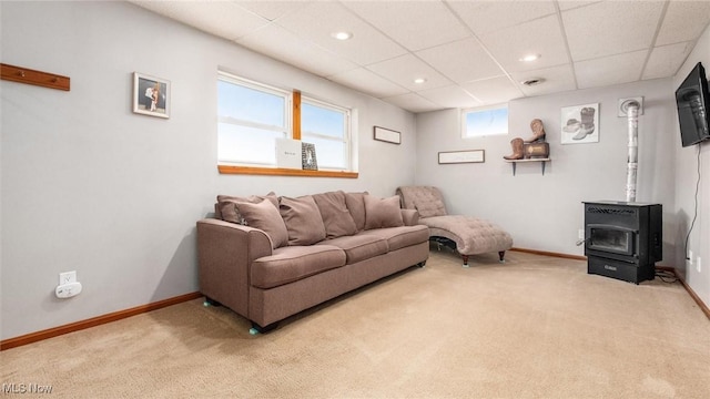
M 268 23 L 233 2 L 132 1 L 151 11 L 229 40 L 237 39 Z

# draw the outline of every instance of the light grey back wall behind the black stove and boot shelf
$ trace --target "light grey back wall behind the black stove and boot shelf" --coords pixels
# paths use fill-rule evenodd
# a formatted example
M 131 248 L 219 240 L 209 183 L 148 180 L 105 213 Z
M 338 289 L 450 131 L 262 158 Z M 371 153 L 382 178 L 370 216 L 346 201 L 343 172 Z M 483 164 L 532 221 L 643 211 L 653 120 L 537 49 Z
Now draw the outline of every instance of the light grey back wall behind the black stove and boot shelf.
M 617 116 L 618 99 L 643 96 L 639 117 L 638 202 L 663 205 L 661 264 L 672 264 L 676 244 L 674 152 L 677 122 L 670 79 L 613 88 L 580 90 L 521 99 L 509 104 L 509 134 L 462 139 L 459 112 L 448 110 L 417 115 L 417 184 L 442 188 L 453 213 L 480 216 L 510 232 L 514 246 L 584 255 L 576 246 L 584 228 L 582 201 L 625 201 L 627 119 Z M 560 143 L 560 109 L 599 103 L 599 142 Z M 530 121 L 539 117 L 550 144 L 551 162 L 545 175 L 538 163 L 513 166 L 510 140 L 531 136 Z M 438 165 L 437 152 L 486 151 L 485 163 Z

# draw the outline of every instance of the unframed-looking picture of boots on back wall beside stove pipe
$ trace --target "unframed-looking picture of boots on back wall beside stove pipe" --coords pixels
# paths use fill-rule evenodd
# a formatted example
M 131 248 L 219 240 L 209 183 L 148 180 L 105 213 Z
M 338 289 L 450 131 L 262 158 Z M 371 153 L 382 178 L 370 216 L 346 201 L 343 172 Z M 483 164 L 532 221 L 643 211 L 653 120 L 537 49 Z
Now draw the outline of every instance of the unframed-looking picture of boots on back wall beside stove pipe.
M 599 103 L 565 106 L 561 111 L 562 144 L 599 142 Z

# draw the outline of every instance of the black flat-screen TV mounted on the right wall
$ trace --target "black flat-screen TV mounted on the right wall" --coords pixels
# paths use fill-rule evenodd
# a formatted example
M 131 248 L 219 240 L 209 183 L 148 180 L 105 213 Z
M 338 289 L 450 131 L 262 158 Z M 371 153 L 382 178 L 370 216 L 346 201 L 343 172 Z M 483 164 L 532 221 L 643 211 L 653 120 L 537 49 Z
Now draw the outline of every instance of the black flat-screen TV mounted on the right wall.
M 698 62 L 676 90 L 680 139 L 682 146 L 690 146 L 710 139 L 710 92 L 702 63 Z

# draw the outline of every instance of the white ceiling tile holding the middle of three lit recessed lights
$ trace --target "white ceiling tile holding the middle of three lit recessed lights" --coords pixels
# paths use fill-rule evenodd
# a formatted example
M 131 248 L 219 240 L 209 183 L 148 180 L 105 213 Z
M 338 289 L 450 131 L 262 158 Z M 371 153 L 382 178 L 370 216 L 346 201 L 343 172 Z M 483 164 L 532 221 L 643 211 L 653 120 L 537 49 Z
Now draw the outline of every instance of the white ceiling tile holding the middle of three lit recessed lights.
M 368 65 L 367 69 L 386 78 L 403 88 L 412 91 L 440 88 L 452 84 L 452 81 L 436 72 L 432 66 L 414 57 L 406 54 L 392 60 L 378 62 Z M 417 84 L 414 80 L 417 78 L 426 79 L 426 82 Z

